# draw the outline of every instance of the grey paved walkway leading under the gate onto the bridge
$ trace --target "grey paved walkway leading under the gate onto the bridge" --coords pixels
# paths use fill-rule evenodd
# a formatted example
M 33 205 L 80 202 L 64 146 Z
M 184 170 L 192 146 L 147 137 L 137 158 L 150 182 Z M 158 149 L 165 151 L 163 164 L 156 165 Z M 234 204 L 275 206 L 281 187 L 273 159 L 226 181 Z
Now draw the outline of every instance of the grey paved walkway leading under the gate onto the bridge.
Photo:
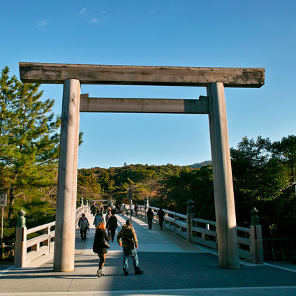
M 119 227 L 127 219 L 117 216 Z M 144 274 L 122 271 L 123 254 L 111 242 L 105 276 L 96 277 L 98 256 L 92 252 L 94 228 L 87 242 L 76 235 L 75 270 L 52 272 L 52 258 L 41 258 L 26 269 L 0 271 L 0 296 L 11 295 L 296 295 L 296 270 L 274 265 L 241 262 L 237 270 L 220 269 L 214 252 L 188 244 L 186 240 L 158 225 L 133 219 L 138 234 L 139 262 Z

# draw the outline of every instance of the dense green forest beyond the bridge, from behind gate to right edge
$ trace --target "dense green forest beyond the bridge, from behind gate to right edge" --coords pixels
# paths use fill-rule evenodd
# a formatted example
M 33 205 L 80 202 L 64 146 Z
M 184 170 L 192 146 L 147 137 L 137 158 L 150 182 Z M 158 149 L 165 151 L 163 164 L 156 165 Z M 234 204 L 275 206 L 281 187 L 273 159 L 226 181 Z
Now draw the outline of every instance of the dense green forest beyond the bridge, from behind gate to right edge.
M 237 225 L 249 227 L 251 209 L 259 210 L 264 235 L 290 236 L 296 230 L 296 137 L 271 142 L 244 137 L 230 149 Z M 128 202 L 128 186 L 135 186 L 134 202 L 186 214 L 194 201 L 195 216 L 215 220 L 212 165 L 124 165 L 78 171 L 78 195 Z M 196 167 L 196 168 L 195 168 Z

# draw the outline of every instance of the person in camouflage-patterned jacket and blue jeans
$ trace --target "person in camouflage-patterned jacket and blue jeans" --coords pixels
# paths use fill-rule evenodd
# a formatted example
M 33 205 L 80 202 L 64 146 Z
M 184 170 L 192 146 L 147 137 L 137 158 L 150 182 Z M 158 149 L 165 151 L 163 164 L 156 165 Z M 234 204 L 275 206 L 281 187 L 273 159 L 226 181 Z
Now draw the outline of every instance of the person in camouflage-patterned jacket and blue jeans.
M 119 246 L 122 246 L 124 251 L 124 275 L 128 275 L 128 256 L 133 258 L 133 268 L 135 269 L 135 274 L 142 274 L 143 271 L 139 267 L 138 260 L 138 239 L 133 229 L 133 224 L 131 219 L 126 220 L 126 224 L 122 225 L 121 230 L 117 235 L 117 242 Z

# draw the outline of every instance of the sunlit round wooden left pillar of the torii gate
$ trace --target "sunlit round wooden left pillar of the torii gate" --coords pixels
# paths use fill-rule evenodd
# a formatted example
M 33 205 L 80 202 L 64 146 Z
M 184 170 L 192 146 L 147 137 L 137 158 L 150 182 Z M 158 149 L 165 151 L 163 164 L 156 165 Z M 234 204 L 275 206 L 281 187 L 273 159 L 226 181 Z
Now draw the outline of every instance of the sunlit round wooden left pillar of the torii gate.
M 65 80 L 61 110 L 61 142 L 54 240 L 55 272 L 74 270 L 79 110 L 80 81 L 77 79 Z

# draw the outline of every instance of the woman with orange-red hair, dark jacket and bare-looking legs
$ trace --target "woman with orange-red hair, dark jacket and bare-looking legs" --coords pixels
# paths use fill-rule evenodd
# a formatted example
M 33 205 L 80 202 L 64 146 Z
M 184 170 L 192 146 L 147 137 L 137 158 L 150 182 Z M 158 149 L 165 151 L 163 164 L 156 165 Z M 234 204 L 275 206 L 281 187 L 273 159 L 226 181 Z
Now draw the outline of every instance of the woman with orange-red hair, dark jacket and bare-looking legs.
M 96 233 L 94 236 L 94 246 L 93 251 L 98 254 L 98 258 L 100 258 L 100 262 L 98 262 L 98 271 L 96 275 L 101 277 L 103 274 L 103 266 L 105 265 L 106 261 L 106 254 L 108 253 L 107 248 L 105 246 L 105 241 L 109 241 L 109 237 L 106 233 L 105 224 L 103 222 L 98 223 L 96 227 Z

